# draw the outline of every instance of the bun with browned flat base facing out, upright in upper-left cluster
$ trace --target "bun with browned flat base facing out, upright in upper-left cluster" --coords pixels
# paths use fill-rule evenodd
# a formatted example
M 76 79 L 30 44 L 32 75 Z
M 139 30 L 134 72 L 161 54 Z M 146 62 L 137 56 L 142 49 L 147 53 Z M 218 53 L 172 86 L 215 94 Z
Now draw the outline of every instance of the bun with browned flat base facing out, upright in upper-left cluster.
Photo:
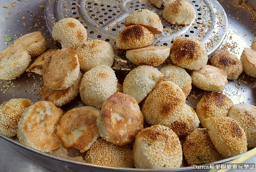
M 79 62 L 73 47 L 57 50 L 44 63 L 42 74 L 45 85 L 53 90 L 64 90 L 78 78 Z

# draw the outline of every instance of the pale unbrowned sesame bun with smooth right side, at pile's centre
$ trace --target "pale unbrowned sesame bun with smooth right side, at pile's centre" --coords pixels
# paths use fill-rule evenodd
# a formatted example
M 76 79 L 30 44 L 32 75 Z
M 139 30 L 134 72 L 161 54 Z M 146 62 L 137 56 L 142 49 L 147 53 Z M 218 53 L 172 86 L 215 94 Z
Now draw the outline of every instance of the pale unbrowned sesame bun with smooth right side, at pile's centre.
M 161 81 L 163 74 L 152 66 L 138 66 L 124 78 L 123 93 L 140 103 Z

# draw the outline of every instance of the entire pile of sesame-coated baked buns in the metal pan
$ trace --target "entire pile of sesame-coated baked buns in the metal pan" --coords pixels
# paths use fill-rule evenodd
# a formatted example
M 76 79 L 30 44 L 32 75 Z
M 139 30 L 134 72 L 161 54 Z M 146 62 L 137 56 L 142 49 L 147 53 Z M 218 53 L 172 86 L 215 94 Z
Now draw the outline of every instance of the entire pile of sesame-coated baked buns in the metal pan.
M 194 9 L 185 0 L 149 2 L 164 8 L 162 16 L 171 24 L 188 25 L 194 19 Z M 5 101 L 0 105 L 0 133 L 17 134 L 20 143 L 39 151 L 63 145 L 87 151 L 86 162 L 128 168 L 179 168 L 183 153 L 189 166 L 200 165 L 256 147 L 256 107 L 233 104 L 221 93 L 243 70 L 256 77 L 256 39 L 254 50 L 244 48 L 241 61 L 228 51 L 218 51 L 208 65 L 204 45 L 193 38 L 174 37 L 171 47 L 150 46 L 154 34 L 163 32 L 152 11 L 135 11 L 124 25 L 116 47 L 127 50 L 127 59 L 138 67 L 123 84 L 111 68 L 113 47 L 87 40 L 86 29 L 73 18 L 53 27 L 52 38 L 62 49 L 45 52 L 41 32 L 23 35 L 4 49 L 0 79 L 12 80 L 24 71 L 43 75 L 39 96 L 44 101 Z M 167 57 L 172 62 L 156 68 Z M 209 91 L 196 111 L 185 103 L 191 84 Z M 78 93 L 87 106 L 64 113 L 60 107 Z M 183 149 L 179 138 L 186 138 Z

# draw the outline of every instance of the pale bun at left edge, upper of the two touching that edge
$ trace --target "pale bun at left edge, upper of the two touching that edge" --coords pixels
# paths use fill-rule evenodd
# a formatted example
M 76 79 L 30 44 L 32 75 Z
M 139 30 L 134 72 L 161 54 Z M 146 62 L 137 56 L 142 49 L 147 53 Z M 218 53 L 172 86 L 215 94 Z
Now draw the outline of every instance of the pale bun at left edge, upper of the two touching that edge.
M 20 76 L 28 68 L 29 61 L 26 47 L 9 45 L 0 53 L 0 79 L 12 80 Z

